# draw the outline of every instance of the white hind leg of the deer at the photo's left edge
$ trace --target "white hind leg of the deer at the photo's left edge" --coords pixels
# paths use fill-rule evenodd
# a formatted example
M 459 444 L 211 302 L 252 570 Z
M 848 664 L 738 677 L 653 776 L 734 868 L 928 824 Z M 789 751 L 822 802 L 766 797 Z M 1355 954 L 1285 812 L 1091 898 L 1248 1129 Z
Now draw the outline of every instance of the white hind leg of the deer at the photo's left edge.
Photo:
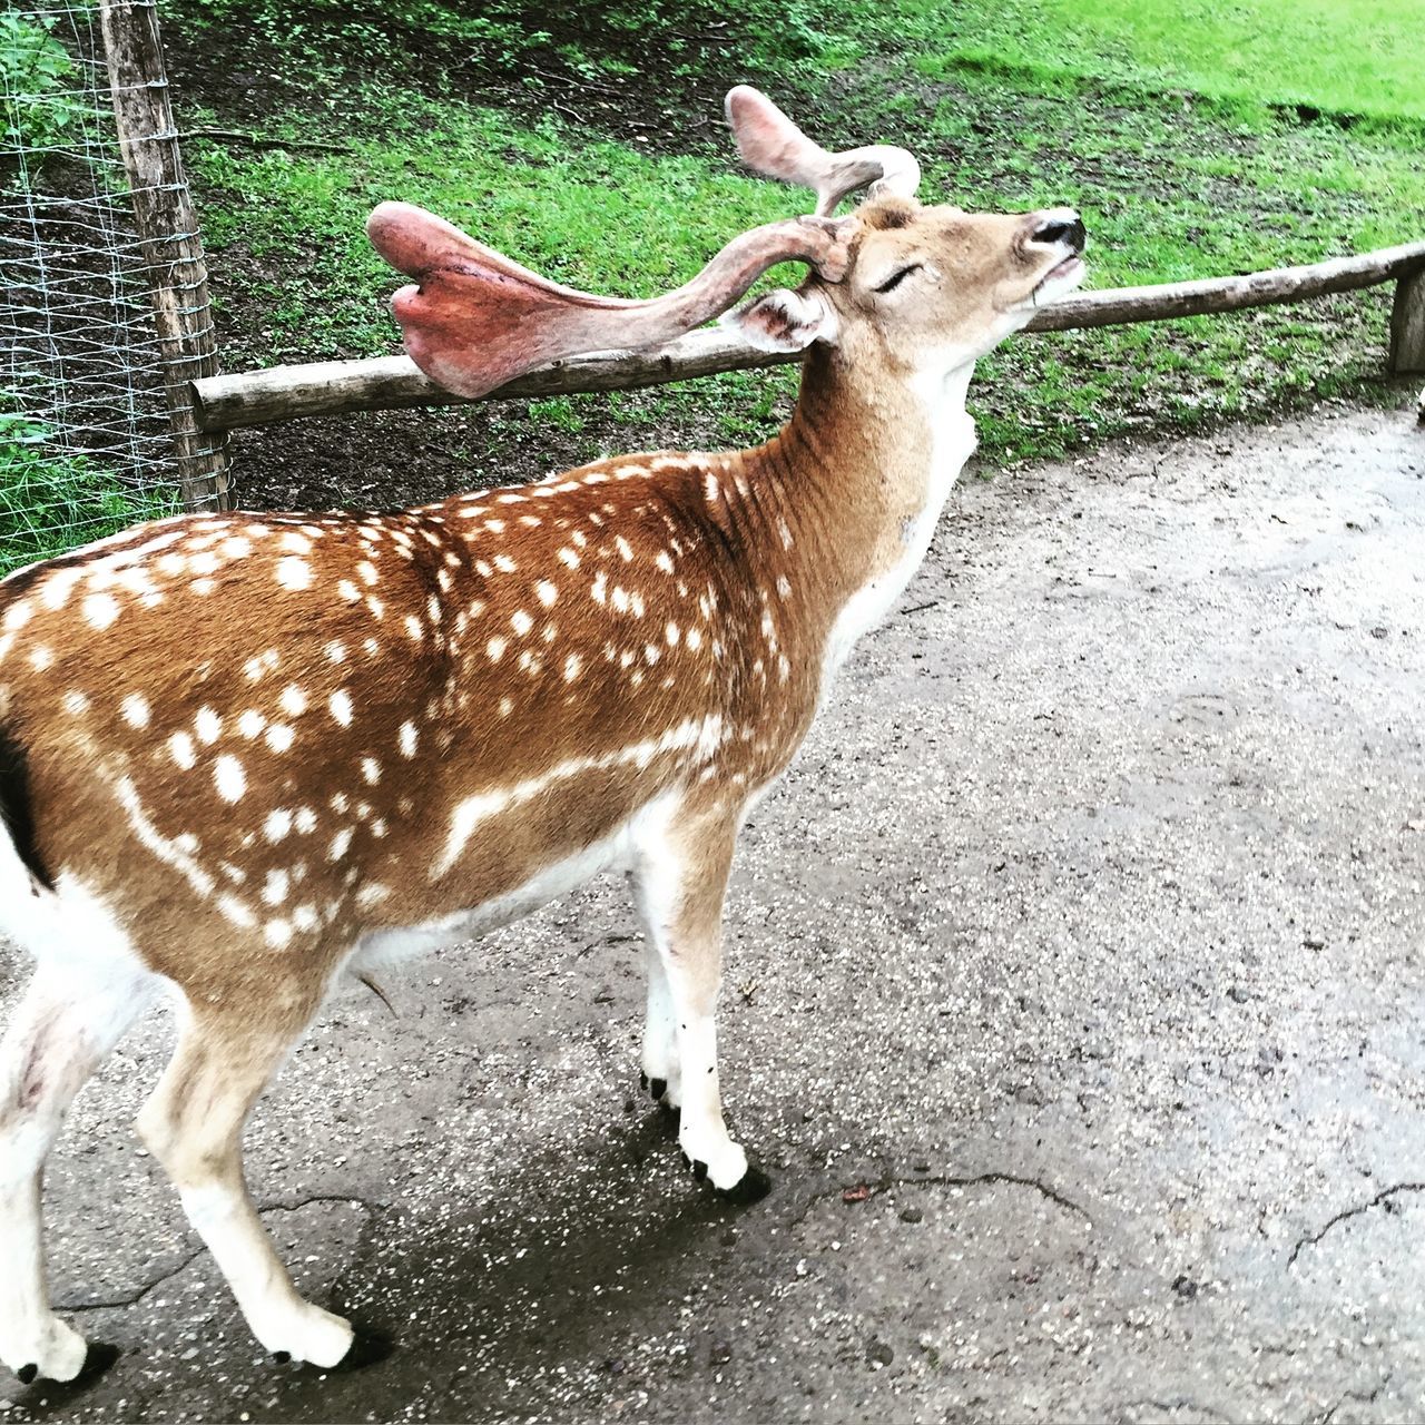
M 41 963 L 0 1042 L 0 1359 L 21 1381 L 73 1381 L 117 1352 L 86 1345 L 51 1310 L 41 1180 L 64 1113 L 152 1000 L 141 970 Z

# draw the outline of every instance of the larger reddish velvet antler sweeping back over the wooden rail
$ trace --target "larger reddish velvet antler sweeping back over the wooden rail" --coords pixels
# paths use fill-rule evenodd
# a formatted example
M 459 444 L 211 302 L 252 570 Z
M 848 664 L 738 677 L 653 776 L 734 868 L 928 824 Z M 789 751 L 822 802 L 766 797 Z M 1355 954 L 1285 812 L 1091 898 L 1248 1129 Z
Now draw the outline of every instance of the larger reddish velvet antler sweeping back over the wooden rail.
M 846 269 L 848 225 L 788 218 L 734 238 L 691 282 L 627 301 L 550 282 L 423 208 L 383 202 L 366 222 L 376 251 L 416 281 L 392 299 L 412 361 L 462 396 L 483 396 L 581 352 L 656 346 L 727 311 L 778 262 Z

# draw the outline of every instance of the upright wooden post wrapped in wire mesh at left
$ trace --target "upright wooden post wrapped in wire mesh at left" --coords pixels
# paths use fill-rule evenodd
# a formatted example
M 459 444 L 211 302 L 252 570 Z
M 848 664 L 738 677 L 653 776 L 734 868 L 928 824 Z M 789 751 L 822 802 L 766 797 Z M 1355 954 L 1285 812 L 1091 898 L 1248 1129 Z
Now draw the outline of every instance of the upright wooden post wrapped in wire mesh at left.
M 114 117 L 164 368 L 164 395 L 184 509 L 231 506 L 227 433 L 205 432 L 190 382 L 218 372 L 208 269 L 168 98 L 154 0 L 103 0 L 100 16 Z

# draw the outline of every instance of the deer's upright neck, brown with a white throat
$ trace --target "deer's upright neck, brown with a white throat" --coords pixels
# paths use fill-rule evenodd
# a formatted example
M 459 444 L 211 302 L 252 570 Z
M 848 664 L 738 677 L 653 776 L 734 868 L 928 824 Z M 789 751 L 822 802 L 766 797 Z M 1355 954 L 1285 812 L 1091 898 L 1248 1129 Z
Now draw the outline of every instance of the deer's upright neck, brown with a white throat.
M 975 450 L 973 359 L 950 370 L 865 375 L 817 349 L 787 428 L 747 452 L 768 557 L 784 563 L 834 673 L 899 597 Z

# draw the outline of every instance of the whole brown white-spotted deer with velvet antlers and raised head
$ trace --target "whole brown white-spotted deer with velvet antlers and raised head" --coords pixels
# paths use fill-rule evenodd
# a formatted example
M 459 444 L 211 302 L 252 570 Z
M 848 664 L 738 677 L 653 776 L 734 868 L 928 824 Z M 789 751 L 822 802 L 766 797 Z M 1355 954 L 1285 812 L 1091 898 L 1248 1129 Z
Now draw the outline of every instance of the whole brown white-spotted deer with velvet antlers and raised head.
M 805 352 L 765 445 L 385 514 L 181 516 L 0 583 L 0 931 L 36 960 L 0 1069 L 0 1358 L 21 1379 L 113 1355 L 50 1308 L 40 1176 L 160 995 L 178 1043 L 138 1133 L 252 1332 L 322 1368 L 382 1354 L 295 1291 L 245 1187 L 248 1112 L 339 982 L 607 868 L 647 929 L 643 1077 L 700 1177 L 767 1191 L 718 1089 L 738 829 L 921 563 L 975 446 L 976 358 L 1082 279 L 1084 232 L 1067 209 L 922 207 L 908 152 L 826 152 L 751 88 L 728 117 L 817 212 L 657 299 L 557 286 L 403 204 L 369 232 L 413 278 L 409 352 L 466 395 L 664 342 L 804 262 L 797 291 L 724 316 Z

